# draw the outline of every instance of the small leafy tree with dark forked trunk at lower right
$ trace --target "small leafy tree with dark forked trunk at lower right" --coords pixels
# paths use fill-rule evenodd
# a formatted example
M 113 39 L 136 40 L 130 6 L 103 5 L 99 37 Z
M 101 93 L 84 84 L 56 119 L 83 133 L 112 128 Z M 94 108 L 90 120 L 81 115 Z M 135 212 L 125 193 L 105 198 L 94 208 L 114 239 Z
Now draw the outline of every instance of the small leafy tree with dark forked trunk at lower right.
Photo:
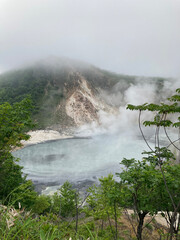
M 123 205 L 126 208 L 134 209 L 138 221 L 135 234 L 137 239 L 141 240 L 144 218 L 148 213 L 153 215 L 157 212 L 154 202 L 156 195 L 154 167 L 149 166 L 145 161 L 135 159 L 123 159 L 121 164 L 126 167 L 122 173 L 118 174 L 121 183 L 124 184 L 122 190 L 122 198 L 123 196 L 125 198 Z

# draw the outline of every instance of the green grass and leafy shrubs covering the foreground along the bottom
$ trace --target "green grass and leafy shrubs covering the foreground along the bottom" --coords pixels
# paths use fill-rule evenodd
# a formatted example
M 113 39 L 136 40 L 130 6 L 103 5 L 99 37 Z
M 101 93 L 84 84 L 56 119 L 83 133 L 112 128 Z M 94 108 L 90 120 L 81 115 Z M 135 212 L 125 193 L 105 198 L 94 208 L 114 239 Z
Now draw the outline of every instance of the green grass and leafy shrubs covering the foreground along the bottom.
M 139 183 L 143 182 L 141 178 Z M 101 178 L 100 182 L 101 185 L 89 189 L 90 195 L 86 198 L 85 206 L 81 200 L 76 204 L 75 189 L 67 182 L 54 196 L 38 196 L 31 211 L 24 210 L 20 204 L 16 209 L 1 205 L 0 239 L 136 239 L 134 228 L 138 227 L 138 215 L 136 211 L 133 215 L 127 214 L 129 208 L 133 207 L 133 186 L 131 189 L 127 188 L 127 184 L 123 186 L 112 175 Z M 67 194 L 62 195 L 64 191 Z M 142 189 L 138 200 L 143 209 L 145 199 L 141 192 Z M 57 201 L 57 196 L 61 196 L 60 201 Z M 71 212 L 68 212 L 69 206 L 66 204 L 69 199 Z M 65 212 L 61 208 L 66 210 L 64 216 L 61 213 Z M 144 221 L 142 239 L 155 240 L 160 236 L 166 239 L 166 228 L 158 225 L 153 216 L 149 216 Z

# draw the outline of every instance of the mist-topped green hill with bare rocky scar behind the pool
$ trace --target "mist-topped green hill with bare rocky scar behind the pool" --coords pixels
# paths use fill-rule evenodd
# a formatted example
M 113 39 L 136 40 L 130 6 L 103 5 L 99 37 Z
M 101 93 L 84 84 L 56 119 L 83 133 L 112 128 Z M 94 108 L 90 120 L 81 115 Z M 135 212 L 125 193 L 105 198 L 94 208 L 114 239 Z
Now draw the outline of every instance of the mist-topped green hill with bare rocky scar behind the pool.
M 110 73 L 67 58 L 50 57 L 0 75 L 0 103 L 30 95 L 37 129 L 66 131 L 98 123 L 99 111 L 116 114 L 118 104 L 108 94 L 125 91 L 136 77 Z M 163 79 L 157 84 L 162 85 Z

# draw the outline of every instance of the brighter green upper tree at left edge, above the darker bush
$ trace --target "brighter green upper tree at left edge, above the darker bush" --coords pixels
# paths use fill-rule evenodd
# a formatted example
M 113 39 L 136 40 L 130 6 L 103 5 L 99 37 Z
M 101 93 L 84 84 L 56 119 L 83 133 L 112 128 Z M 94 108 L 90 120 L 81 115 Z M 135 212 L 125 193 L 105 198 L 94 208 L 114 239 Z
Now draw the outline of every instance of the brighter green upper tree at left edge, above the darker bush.
M 6 154 L 15 147 L 22 146 L 21 140 L 28 140 L 26 130 L 33 126 L 31 120 L 32 103 L 26 98 L 19 103 L 0 105 L 0 154 L 1 164 Z

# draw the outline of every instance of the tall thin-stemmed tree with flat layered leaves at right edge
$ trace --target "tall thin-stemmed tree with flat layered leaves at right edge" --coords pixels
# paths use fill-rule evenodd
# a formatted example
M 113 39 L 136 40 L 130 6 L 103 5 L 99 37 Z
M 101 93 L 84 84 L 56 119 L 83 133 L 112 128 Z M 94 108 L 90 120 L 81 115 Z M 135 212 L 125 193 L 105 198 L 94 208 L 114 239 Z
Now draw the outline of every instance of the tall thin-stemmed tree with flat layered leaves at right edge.
M 170 155 L 173 159 L 174 157 L 169 151 L 169 147 L 173 146 L 176 151 L 180 151 L 179 146 L 179 138 L 177 140 L 172 140 L 170 135 L 168 134 L 167 128 L 180 128 L 180 88 L 176 90 L 176 94 L 172 97 L 168 98 L 168 103 L 161 103 L 161 104 L 143 104 L 139 106 L 134 106 L 129 104 L 128 109 L 130 110 L 138 110 L 139 111 L 139 128 L 141 131 L 141 134 L 143 136 L 144 141 L 146 142 L 147 146 L 150 149 L 150 152 L 146 152 L 148 154 L 148 157 L 151 158 L 151 161 L 154 162 L 157 167 L 160 169 L 160 172 L 162 174 L 164 186 L 166 188 L 166 192 L 168 194 L 168 199 L 171 202 L 171 205 L 173 206 L 173 214 L 170 221 L 170 228 L 169 228 L 169 239 L 172 240 L 174 229 L 175 229 L 175 223 L 178 216 L 178 212 L 180 211 L 180 198 L 178 201 L 176 201 L 176 195 L 177 192 L 174 193 L 170 186 L 168 186 L 167 183 L 167 177 L 165 176 L 165 171 L 163 169 L 163 164 L 167 160 L 169 160 Z M 153 113 L 153 119 L 145 121 L 143 124 L 145 126 L 155 126 L 155 133 L 154 133 L 154 139 L 155 139 L 155 146 L 154 148 L 149 144 L 147 141 L 143 129 L 141 127 L 141 113 L 143 111 L 149 111 Z M 160 141 L 160 129 L 164 130 L 164 133 L 167 137 L 167 140 L 169 141 L 169 144 L 165 147 L 162 147 L 161 141 Z M 177 131 L 178 132 L 178 131 Z M 178 168 L 176 165 L 174 165 L 174 168 Z

